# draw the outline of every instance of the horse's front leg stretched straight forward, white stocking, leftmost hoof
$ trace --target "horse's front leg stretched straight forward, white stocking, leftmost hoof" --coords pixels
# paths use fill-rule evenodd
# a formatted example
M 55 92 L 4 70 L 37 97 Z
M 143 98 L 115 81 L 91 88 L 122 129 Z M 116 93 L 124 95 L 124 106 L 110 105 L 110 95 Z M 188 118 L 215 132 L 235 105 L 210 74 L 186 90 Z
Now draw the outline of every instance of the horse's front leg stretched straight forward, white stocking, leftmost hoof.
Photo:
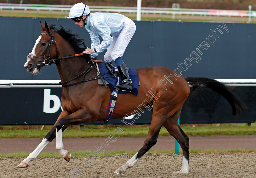
M 56 122 L 58 122 L 60 118 L 63 118 L 67 115 L 68 114 L 65 111 L 62 111 Z M 64 128 L 62 128 L 62 131 L 65 130 L 68 126 L 69 125 L 66 125 Z M 56 137 L 56 129 L 55 129 L 55 126 L 53 126 L 53 128 L 46 134 L 46 136 L 44 137 L 42 142 L 37 146 L 37 148 L 34 149 L 34 151 L 31 152 L 27 158 L 23 159 L 23 161 L 17 167 L 27 168 L 27 166 L 29 165 L 29 162 L 36 159 L 36 157 L 44 149 L 44 147 L 48 145 L 48 143 L 52 142 L 52 140 L 55 139 L 55 137 Z

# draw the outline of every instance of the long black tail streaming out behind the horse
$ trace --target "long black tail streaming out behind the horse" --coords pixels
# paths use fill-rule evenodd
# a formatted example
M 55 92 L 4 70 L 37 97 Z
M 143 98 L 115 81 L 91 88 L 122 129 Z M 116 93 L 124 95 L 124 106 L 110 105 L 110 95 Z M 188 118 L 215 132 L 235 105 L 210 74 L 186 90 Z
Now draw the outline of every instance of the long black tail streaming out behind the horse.
M 190 94 L 192 94 L 194 91 L 197 91 L 202 86 L 210 88 L 226 98 L 226 100 L 232 107 L 233 115 L 236 115 L 237 112 L 240 113 L 240 110 L 242 111 L 242 113 L 244 113 L 244 104 L 242 103 L 242 101 L 240 101 L 238 96 L 236 96 L 229 90 L 226 85 L 220 83 L 217 80 L 204 77 L 185 77 L 185 79 L 194 88 L 194 90 Z

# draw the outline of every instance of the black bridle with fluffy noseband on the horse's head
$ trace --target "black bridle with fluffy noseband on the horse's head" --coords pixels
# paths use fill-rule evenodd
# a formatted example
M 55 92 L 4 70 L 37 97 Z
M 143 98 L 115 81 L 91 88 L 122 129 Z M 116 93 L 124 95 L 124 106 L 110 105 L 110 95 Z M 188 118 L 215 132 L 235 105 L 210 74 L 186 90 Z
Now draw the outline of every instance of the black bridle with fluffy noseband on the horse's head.
M 55 43 L 55 46 L 56 46 L 56 49 L 57 49 L 57 53 L 59 53 L 59 50 L 58 50 L 58 47 L 57 47 L 57 44 L 56 44 L 56 41 L 55 41 L 54 31 L 52 30 L 52 34 L 49 34 L 49 33 L 41 33 L 40 35 L 42 35 L 42 34 L 51 36 L 51 40 L 50 40 L 50 43 L 48 44 L 47 50 L 46 50 L 45 53 L 44 53 L 44 57 L 39 57 L 39 56 L 34 56 L 34 55 L 33 55 L 33 58 L 34 58 L 34 57 L 40 58 L 40 59 L 44 60 L 44 62 L 36 63 L 32 58 L 30 58 L 30 59 L 36 64 L 36 66 L 38 67 L 38 70 L 40 70 L 40 66 L 41 66 L 42 64 L 45 64 L 45 65 L 50 64 L 50 65 L 51 65 L 51 63 L 56 63 L 57 61 L 61 61 L 61 60 L 62 60 L 62 58 L 59 58 L 59 57 L 58 57 L 58 59 L 50 60 L 51 53 L 52 53 L 52 46 L 53 46 L 52 44 L 53 44 L 53 41 L 54 41 L 54 43 Z M 45 56 L 46 56 L 46 53 L 47 53 L 47 51 L 48 51 L 49 49 L 50 49 L 50 51 L 49 51 L 49 54 L 48 54 L 48 56 L 47 56 L 47 59 L 44 59 Z M 48 60 L 48 62 L 46 62 L 46 60 Z

